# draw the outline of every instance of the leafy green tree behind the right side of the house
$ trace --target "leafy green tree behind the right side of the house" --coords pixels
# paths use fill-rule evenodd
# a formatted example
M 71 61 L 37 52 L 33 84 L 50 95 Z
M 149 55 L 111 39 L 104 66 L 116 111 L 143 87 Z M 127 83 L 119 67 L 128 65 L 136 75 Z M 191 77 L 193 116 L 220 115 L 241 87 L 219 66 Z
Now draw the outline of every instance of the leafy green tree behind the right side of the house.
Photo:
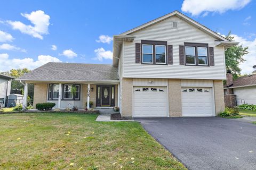
M 226 36 L 230 41 L 234 41 L 234 36 L 231 36 L 231 32 Z M 239 63 L 245 62 L 243 56 L 248 54 L 248 47 L 243 45 L 236 45 L 230 47 L 225 52 L 226 70 L 230 70 L 234 78 L 237 78 L 241 74 Z

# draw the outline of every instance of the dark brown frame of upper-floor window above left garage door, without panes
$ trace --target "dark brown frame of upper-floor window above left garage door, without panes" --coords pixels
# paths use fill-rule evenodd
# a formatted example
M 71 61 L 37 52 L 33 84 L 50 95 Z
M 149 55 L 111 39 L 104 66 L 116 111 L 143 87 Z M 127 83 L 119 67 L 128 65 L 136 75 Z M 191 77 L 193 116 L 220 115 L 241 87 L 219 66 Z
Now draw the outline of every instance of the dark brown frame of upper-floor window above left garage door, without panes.
M 143 45 L 152 45 L 153 46 L 153 62 L 152 63 L 144 63 L 143 62 Z M 156 45 L 164 45 L 165 46 L 165 63 L 156 63 Z M 168 49 L 167 49 L 167 41 L 152 41 L 152 40 L 141 40 L 141 64 L 154 64 L 154 65 L 168 65 Z

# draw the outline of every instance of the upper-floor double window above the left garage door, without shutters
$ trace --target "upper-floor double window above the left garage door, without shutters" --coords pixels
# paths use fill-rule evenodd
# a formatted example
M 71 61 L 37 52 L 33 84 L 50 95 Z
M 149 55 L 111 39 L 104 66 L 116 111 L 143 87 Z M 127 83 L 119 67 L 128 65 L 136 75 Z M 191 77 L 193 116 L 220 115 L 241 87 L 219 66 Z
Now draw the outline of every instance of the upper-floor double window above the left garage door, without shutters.
M 141 40 L 142 64 L 166 64 L 167 42 Z

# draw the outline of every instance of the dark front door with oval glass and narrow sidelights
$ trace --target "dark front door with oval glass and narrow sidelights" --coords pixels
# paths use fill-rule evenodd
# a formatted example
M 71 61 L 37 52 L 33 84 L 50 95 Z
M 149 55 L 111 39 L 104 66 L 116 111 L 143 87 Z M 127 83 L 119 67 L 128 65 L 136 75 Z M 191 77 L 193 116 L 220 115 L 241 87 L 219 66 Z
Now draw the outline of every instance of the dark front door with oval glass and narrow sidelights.
M 115 106 L 115 85 L 97 85 L 96 107 Z

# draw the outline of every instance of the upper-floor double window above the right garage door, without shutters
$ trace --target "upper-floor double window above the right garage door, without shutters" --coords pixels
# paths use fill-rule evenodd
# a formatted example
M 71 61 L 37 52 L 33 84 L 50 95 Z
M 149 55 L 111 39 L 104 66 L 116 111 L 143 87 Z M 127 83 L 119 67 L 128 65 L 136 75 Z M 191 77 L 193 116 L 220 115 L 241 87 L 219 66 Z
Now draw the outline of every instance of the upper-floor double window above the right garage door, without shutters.
M 186 65 L 209 65 L 207 50 L 207 44 L 185 43 Z

